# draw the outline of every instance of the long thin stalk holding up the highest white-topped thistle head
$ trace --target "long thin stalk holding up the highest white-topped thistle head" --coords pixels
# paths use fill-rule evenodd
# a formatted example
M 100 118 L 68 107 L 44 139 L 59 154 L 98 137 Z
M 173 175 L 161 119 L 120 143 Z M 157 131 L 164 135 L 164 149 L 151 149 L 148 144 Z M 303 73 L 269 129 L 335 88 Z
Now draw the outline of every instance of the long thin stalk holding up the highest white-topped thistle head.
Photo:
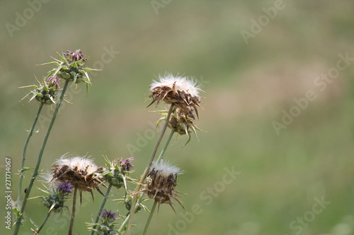
M 137 205 L 137 198 L 139 196 L 140 188 L 142 188 L 142 183 L 144 183 L 144 180 L 147 177 L 147 174 L 149 174 L 149 169 L 152 166 L 152 162 L 154 162 L 154 158 L 156 156 L 157 149 L 159 148 L 161 140 L 164 137 L 164 133 L 166 132 L 166 128 L 169 125 L 169 120 L 170 120 L 171 113 L 173 112 L 173 109 L 174 109 L 174 104 L 171 104 L 171 107 L 169 109 L 169 113 L 167 114 L 167 117 L 166 117 L 164 127 L 162 128 L 162 131 L 159 135 L 159 139 L 157 140 L 154 150 L 152 151 L 152 156 L 150 157 L 149 163 L 147 164 L 147 168 L 145 169 L 144 173 L 140 177 L 140 180 L 137 183 L 137 188 L 135 188 L 134 197 L 132 199 L 132 207 L 130 208 L 130 219 L 129 219 L 129 222 L 127 225 L 126 235 L 130 235 L 130 231 L 132 231 L 132 221 L 133 221 L 134 214 L 135 214 L 135 206 Z

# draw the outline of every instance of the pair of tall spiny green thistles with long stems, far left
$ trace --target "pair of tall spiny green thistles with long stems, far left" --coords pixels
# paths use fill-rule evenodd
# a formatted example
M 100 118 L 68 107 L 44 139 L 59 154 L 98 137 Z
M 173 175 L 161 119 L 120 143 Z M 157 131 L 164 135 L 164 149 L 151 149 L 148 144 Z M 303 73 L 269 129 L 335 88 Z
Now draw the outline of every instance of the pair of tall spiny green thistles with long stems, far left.
M 60 55 L 58 53 L 58 56 L 59 56 L 59 59 L 55 59 L 55 61 L 52 61 L 47 64 L 42 64 L 42 65 L 55 65 L 55 68 L 52 68 L 52 70 L 50 70 L 48 72 L 47 76 L 45 78 L 43 78 L 42 83 L 40 83 L 38 86 L 35 86 L 35 85 L 27 86 L 28 88 L 35 88 L 28 95 L 32 95 L 30 100 L 33 100 L 35 98 L 35 100 L 37 100 L 39 102 L 39 108 L 38 108 L 38 112 L 35 116 L 35 121 L 33 122 L 33 125 L 30 128 L 28 138 L 25 141 L 25 147 L 23 148 L 23 157 L 22 157 L 22 164 L 21 164 L 21 171 L 20 171 L 20 181 L 19 181 L 19 185 L 18 185 L 18 198 L 16 200 L 16 204 L 20 205 L 20 206 L 13 207 L 13 211 L 16 215 L 15 229 L 14 229 L 13 234 L 18 234 L 18 231 L 21 227 L 21 223 L 23 220 L 23 213 L 25 212 L 25 205 L 27 203 L 30 192 L 33 188 L 33 184 L 35 182 L 35 179 L 37 178 L 37 176 L 39 174 L 40 162 L 42 160 L 42 155 L 45 150 L 47 140 L 50 136 L 52 126 L 55 123 L 57 113 L 59 112 L 60 105 L 62 104 L 62 101 L 64 100 L 64 94 L 67 91 L 67 88 L 69 87 L 69 83 L 74 83 L 75 85 L 77 83 L 81 83 L 81 82 L 86 83 L 86 90 L 88 89 L 87 85 L 91 84 L 91 80 L 89 78 L 87 71 L 92 71 L 94 69 L 83 67 L 85 62 L 87 61 L 87 59 L 80 52 L 80 50 L 76 50 L 74 52 L 67 51 L 62 55 Z M 60 79 L 64 80 L 64 86 L 63 86 L 62 90 L 59 89 Z M 55 93 L 58 92 L 59 90 L 61 91 L 60 94 L 55 95 Z M 26 97 L 28 95 L 26 95 Z M 45 133 L 45 138 L 43 139 L 42 146 L 40 147 L 40 152 L 38 154 L 38 159 L 35 164 L 34 171 L 33 171 L 32 177 L 30 179 L 30 183 L 29 183 L 28 187 L 26 188 L 25 195 L 24 195 L 23 201 L 21 203 L 23 176 L 25 174 L 25 171 L 30 170 L 29 167 L 25 167 L 25 158 L 26 158 L 27 147 L 30 142 L 31 136 L 34 133 L 35 126 L 38 121 L 38 117 L 40 116 L 40 113 L 42 112 L 42 107 L 44 104 L 50 104 L 50 105 L 55 104 L 55 111 L 52 115 L 52 120 L 50 121 L 50 125 L 47 128 L 47 132 Z

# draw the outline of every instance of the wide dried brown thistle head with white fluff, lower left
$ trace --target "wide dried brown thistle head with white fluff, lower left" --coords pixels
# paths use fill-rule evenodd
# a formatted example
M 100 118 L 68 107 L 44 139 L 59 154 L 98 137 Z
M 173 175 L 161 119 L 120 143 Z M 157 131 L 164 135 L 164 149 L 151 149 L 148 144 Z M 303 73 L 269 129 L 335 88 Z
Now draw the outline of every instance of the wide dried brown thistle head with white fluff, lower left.
M 53 167 L 52 181 L 71 183 L 74 188 L 79 190 L 80 195 L 82 191 L 88 191 L 93 197 L 93 188 L 103 195 L 98 188 L 98 185 L 103 181 L 99 176 L 102 167 L 98 168 L 91 159 L 63 156 L 55 162 Z

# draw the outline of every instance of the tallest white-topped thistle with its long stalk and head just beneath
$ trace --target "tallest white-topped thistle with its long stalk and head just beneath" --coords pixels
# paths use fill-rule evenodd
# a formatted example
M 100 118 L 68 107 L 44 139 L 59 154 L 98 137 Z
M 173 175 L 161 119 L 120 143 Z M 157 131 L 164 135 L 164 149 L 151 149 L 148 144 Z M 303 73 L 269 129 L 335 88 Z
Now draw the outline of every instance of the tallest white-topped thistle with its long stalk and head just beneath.
M 130 234 L 132 229 L 132 221 L 134 219 L 138 198 L 142 198 L 144 196 L 144 190 L 141 191 L 142 185 L 144 185 L 144 181 L 149 175 L 150 169 L 152 167 L 152 163 L 154 162 L 154 158 L 156 156 L 156 152 L 159 148 L 162 138 L 164 137 L 164 133 L 166 132 L 167 126 L 170 126 L 171 133 L 169 135 L 168 140 L 166 141 L 165 146 L 161 151 L 161 154 L 159 155 L 159 158 L 156 161 L 156 164 L 159 164 L 159 161 L 161 161 L 161 159 L 163 158 L 173 133 L 175 133 L 176 131 L 178 132 L 180 129 L 183 130 L 181 131 L 181 133 L 189 133 L 188 132 L 189 128 L 194 128 L 193 111 L 195 111 L 195 114 L 198 116 L 197 108 L 200 107 L 200 96 L 199 96 L 200 91 L 201 91 L 200 88 L 195 84 L 193 80 L 190 80 L 182 76 L 173 76 L 170 73 L 167 73 L 166 76 L 163 77 L 160 76 L 159 80 L 158 81 L 154 80 L 154 82 L 150 86 L 149 98 L 152 99 L 152 102 L 148 105 L 148 107 L 154 104 L 155 102 L 157 105 L 161 101 L 164 101 L 166 104 L 169 104 L 170 107 L 169 107 L 169 111 L 166 114 L 166 117 L 164 118 L 165 123 L 159 135 L 159 139 L 156 142 L 156 145 L 154 147 L 154 150 L 152 151 L 152 155 L 149 159 L 147 167 L 144 170 L 142 176 L 140 177 L 139 183 L 137 184 L 137 187 L 135 189 L 134 197 L 132 200 L 132 208 L 130 209 L 130 219 L 127 224 L 127 232 L 126 232 L 127 235 Z M 171 119 L 171 114 L 173 114 L 174 112 L 176 112 L 176 115 L 178 115 L 178 113 L 184 114 L 185 118 L 176 116 L 175 119 Z M 184 119 L 184 121 L 183 120 L 178 121 L 178 119 L 180 120 Z M 185 125 L 185 123 L 183 122 L 188 122 L 188 123 L 187 125 Z M 181 126 L 181 123 L 184 126 Z M 189 134 L 188 136 L 190 137 Z M 156 203 L 154 203 L 151 213 L 154 213 L 155 207 L 156 207 Z M 144 229 L 144 233 L 147 231 L 147 227 L 149 226 L 150 219 L 151 218 L 149 217 L 147 226 Z

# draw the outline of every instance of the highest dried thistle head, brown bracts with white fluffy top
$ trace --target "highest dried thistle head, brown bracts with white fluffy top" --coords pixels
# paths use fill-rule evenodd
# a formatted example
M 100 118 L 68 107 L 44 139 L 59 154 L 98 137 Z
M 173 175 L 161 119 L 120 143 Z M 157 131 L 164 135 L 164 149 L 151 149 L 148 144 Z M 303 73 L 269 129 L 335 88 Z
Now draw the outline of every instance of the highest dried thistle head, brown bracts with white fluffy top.
M 151 104 L 159 104 L 161 100 L 166 104 L 175 104 L 177 107 L 200 106 L 200 88 L 191 79 L 182 76 L 173 76 L 168 73 L 164 77 L 159 77 L 159 81 L 154 80 L 150 85 Z M 151 105 L 149 104 L 149 106 Z

